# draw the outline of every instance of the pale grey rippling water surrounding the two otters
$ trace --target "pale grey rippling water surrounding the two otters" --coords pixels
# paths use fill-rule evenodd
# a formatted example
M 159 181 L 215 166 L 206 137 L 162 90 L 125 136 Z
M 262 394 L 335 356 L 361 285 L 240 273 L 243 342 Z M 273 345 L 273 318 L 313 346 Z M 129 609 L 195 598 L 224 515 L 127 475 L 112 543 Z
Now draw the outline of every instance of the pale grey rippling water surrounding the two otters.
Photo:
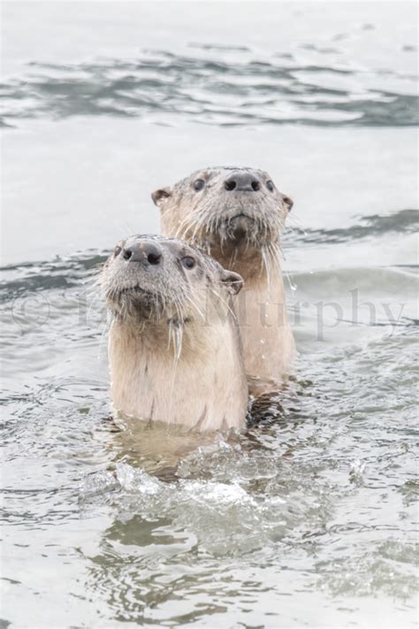
M 2 626 L 414 626 L 415 6 L 74 6 L 2 7 Z M 122 429 L 95 269 L 217 163 L 293 196 L 293 378 Z

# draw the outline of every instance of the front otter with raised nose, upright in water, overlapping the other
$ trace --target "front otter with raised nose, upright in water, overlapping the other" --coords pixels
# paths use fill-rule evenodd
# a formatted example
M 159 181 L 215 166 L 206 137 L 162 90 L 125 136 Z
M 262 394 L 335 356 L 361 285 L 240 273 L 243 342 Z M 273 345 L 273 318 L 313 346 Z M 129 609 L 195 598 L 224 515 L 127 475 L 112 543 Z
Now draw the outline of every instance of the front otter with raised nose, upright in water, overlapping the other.
M 236 272 L 186 242 L 118 242 L 100 285 L 115 410 L 199 431 L 243 426 L 248 386 L 231 297 Z

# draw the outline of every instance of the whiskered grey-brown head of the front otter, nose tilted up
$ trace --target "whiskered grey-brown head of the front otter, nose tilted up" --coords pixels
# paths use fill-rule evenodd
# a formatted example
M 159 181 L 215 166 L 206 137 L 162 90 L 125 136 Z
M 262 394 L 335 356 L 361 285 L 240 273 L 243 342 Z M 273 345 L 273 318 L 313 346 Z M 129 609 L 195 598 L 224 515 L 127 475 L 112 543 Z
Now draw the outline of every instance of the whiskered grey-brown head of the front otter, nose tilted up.
M 155 332 L 170 333 L 202 324 L 213 314 L 209 305 L 226 303 L 243 280 L 186 242 L 134 235 L 118 242 L 100 283 L 114 322 L 140 323 L 142 330 L 149 324 Z

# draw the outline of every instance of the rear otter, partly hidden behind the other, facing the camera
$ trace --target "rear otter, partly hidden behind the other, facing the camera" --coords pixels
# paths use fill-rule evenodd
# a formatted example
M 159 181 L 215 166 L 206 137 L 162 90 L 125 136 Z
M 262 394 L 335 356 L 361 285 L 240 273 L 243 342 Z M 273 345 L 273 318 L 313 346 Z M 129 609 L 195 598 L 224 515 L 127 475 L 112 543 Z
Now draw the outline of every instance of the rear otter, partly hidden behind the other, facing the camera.
M 278 390 L 295 356 L 280 265 L 293 201 L 261 170 L 209 167 L 152 194 L 162 232 L 194 243 L 240 273 L 236 307 L 251 392 Z

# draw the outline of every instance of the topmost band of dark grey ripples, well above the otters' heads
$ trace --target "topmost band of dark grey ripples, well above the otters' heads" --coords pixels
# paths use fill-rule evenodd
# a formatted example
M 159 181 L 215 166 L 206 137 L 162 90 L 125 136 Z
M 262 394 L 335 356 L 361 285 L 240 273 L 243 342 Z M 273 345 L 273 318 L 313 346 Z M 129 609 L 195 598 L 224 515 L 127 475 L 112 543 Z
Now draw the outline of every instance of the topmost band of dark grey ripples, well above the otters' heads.
M 165 122 L 186 116 L 220 126 L 402 127 L 419 122 L 413 77 L 348 67 L 339 56 L 326 59 L 329 64 L 301 64 L 290 54 L 258 60 L 246 47 L 192 45 L 195 56 L 144 50 L 132 60 L 31 62 L 23 77 L 0 86 L 2 124 L 80 115 L 156 122 L 162 116 Z

